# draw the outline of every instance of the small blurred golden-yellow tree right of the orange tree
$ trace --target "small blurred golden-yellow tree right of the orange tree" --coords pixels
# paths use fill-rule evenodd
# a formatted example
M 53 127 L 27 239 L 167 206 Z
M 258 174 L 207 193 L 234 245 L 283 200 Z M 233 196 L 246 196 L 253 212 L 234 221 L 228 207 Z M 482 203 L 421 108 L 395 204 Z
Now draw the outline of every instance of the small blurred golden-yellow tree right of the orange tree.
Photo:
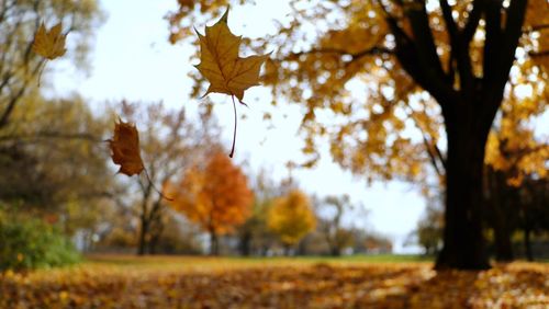
M 284 244 L 285 253 L 316 226 L 309 197 L 294 188 L 277 198 L 269 209 L 267 225 Z

